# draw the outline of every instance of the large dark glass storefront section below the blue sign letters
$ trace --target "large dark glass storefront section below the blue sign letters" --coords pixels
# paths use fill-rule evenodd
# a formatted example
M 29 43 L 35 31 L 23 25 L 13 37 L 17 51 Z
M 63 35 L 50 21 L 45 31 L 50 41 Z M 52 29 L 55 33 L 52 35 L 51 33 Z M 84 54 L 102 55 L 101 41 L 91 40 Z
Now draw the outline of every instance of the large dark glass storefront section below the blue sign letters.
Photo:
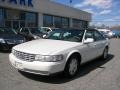
M 1 11 L 0 11 L 1 12 Z M 18 29 L 21 27 L 37 27 L 38 15 L 34 12 L 25 12 L 13 9 L 4 9 L 4 25 Z

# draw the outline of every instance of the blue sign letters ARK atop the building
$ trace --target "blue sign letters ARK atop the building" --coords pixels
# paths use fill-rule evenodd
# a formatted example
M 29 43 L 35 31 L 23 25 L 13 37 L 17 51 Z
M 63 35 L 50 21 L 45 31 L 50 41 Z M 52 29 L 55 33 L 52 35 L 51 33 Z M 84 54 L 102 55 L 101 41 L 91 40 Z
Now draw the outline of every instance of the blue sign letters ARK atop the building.
M 7 0 L 1 0 L 2 2 L 5 2 Z M 29 7 L 33 7 L 33 3 L 32 0 L 8 0 L 9 3 L 14 3 L 16 5 L 23 5 L 23 6 L 29 6 Z

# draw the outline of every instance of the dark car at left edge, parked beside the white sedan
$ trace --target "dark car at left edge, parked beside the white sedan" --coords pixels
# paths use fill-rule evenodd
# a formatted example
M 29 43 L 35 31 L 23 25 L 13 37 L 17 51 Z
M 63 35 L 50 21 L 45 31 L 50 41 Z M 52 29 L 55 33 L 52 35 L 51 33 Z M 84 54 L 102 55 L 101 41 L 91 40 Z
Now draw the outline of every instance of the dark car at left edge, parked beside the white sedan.
M 0 50 L 10 50 L 13 46 L 23 42 L 24 37 L 17 35 L 13 29 L 0 27 Z

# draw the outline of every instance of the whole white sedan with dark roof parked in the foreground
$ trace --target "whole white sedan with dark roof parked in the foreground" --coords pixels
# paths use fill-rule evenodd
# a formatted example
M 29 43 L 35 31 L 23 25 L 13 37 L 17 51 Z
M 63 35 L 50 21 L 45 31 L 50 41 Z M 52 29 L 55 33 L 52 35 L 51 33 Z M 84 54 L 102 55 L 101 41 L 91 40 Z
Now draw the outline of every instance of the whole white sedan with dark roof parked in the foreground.
M 23 72 L 75 76 L 80 65 L 97 57 L 106 59 L 109 41 L 97 30 L 54 29 L 46 39 L 13 47 L 11 64 Z M 103 60 L 101 59 L 101 60 Z

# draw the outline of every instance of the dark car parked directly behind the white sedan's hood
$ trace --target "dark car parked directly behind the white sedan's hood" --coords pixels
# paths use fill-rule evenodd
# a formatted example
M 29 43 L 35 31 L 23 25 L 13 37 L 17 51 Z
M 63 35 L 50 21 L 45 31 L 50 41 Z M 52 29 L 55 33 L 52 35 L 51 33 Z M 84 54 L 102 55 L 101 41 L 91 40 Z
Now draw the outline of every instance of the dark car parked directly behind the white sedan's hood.
M 19 35 L 26 38 L 26 41 L 43 38 L 44 35 L 49 34 L 52 30 L 49 27 L 26 27 L 18 31 Z

